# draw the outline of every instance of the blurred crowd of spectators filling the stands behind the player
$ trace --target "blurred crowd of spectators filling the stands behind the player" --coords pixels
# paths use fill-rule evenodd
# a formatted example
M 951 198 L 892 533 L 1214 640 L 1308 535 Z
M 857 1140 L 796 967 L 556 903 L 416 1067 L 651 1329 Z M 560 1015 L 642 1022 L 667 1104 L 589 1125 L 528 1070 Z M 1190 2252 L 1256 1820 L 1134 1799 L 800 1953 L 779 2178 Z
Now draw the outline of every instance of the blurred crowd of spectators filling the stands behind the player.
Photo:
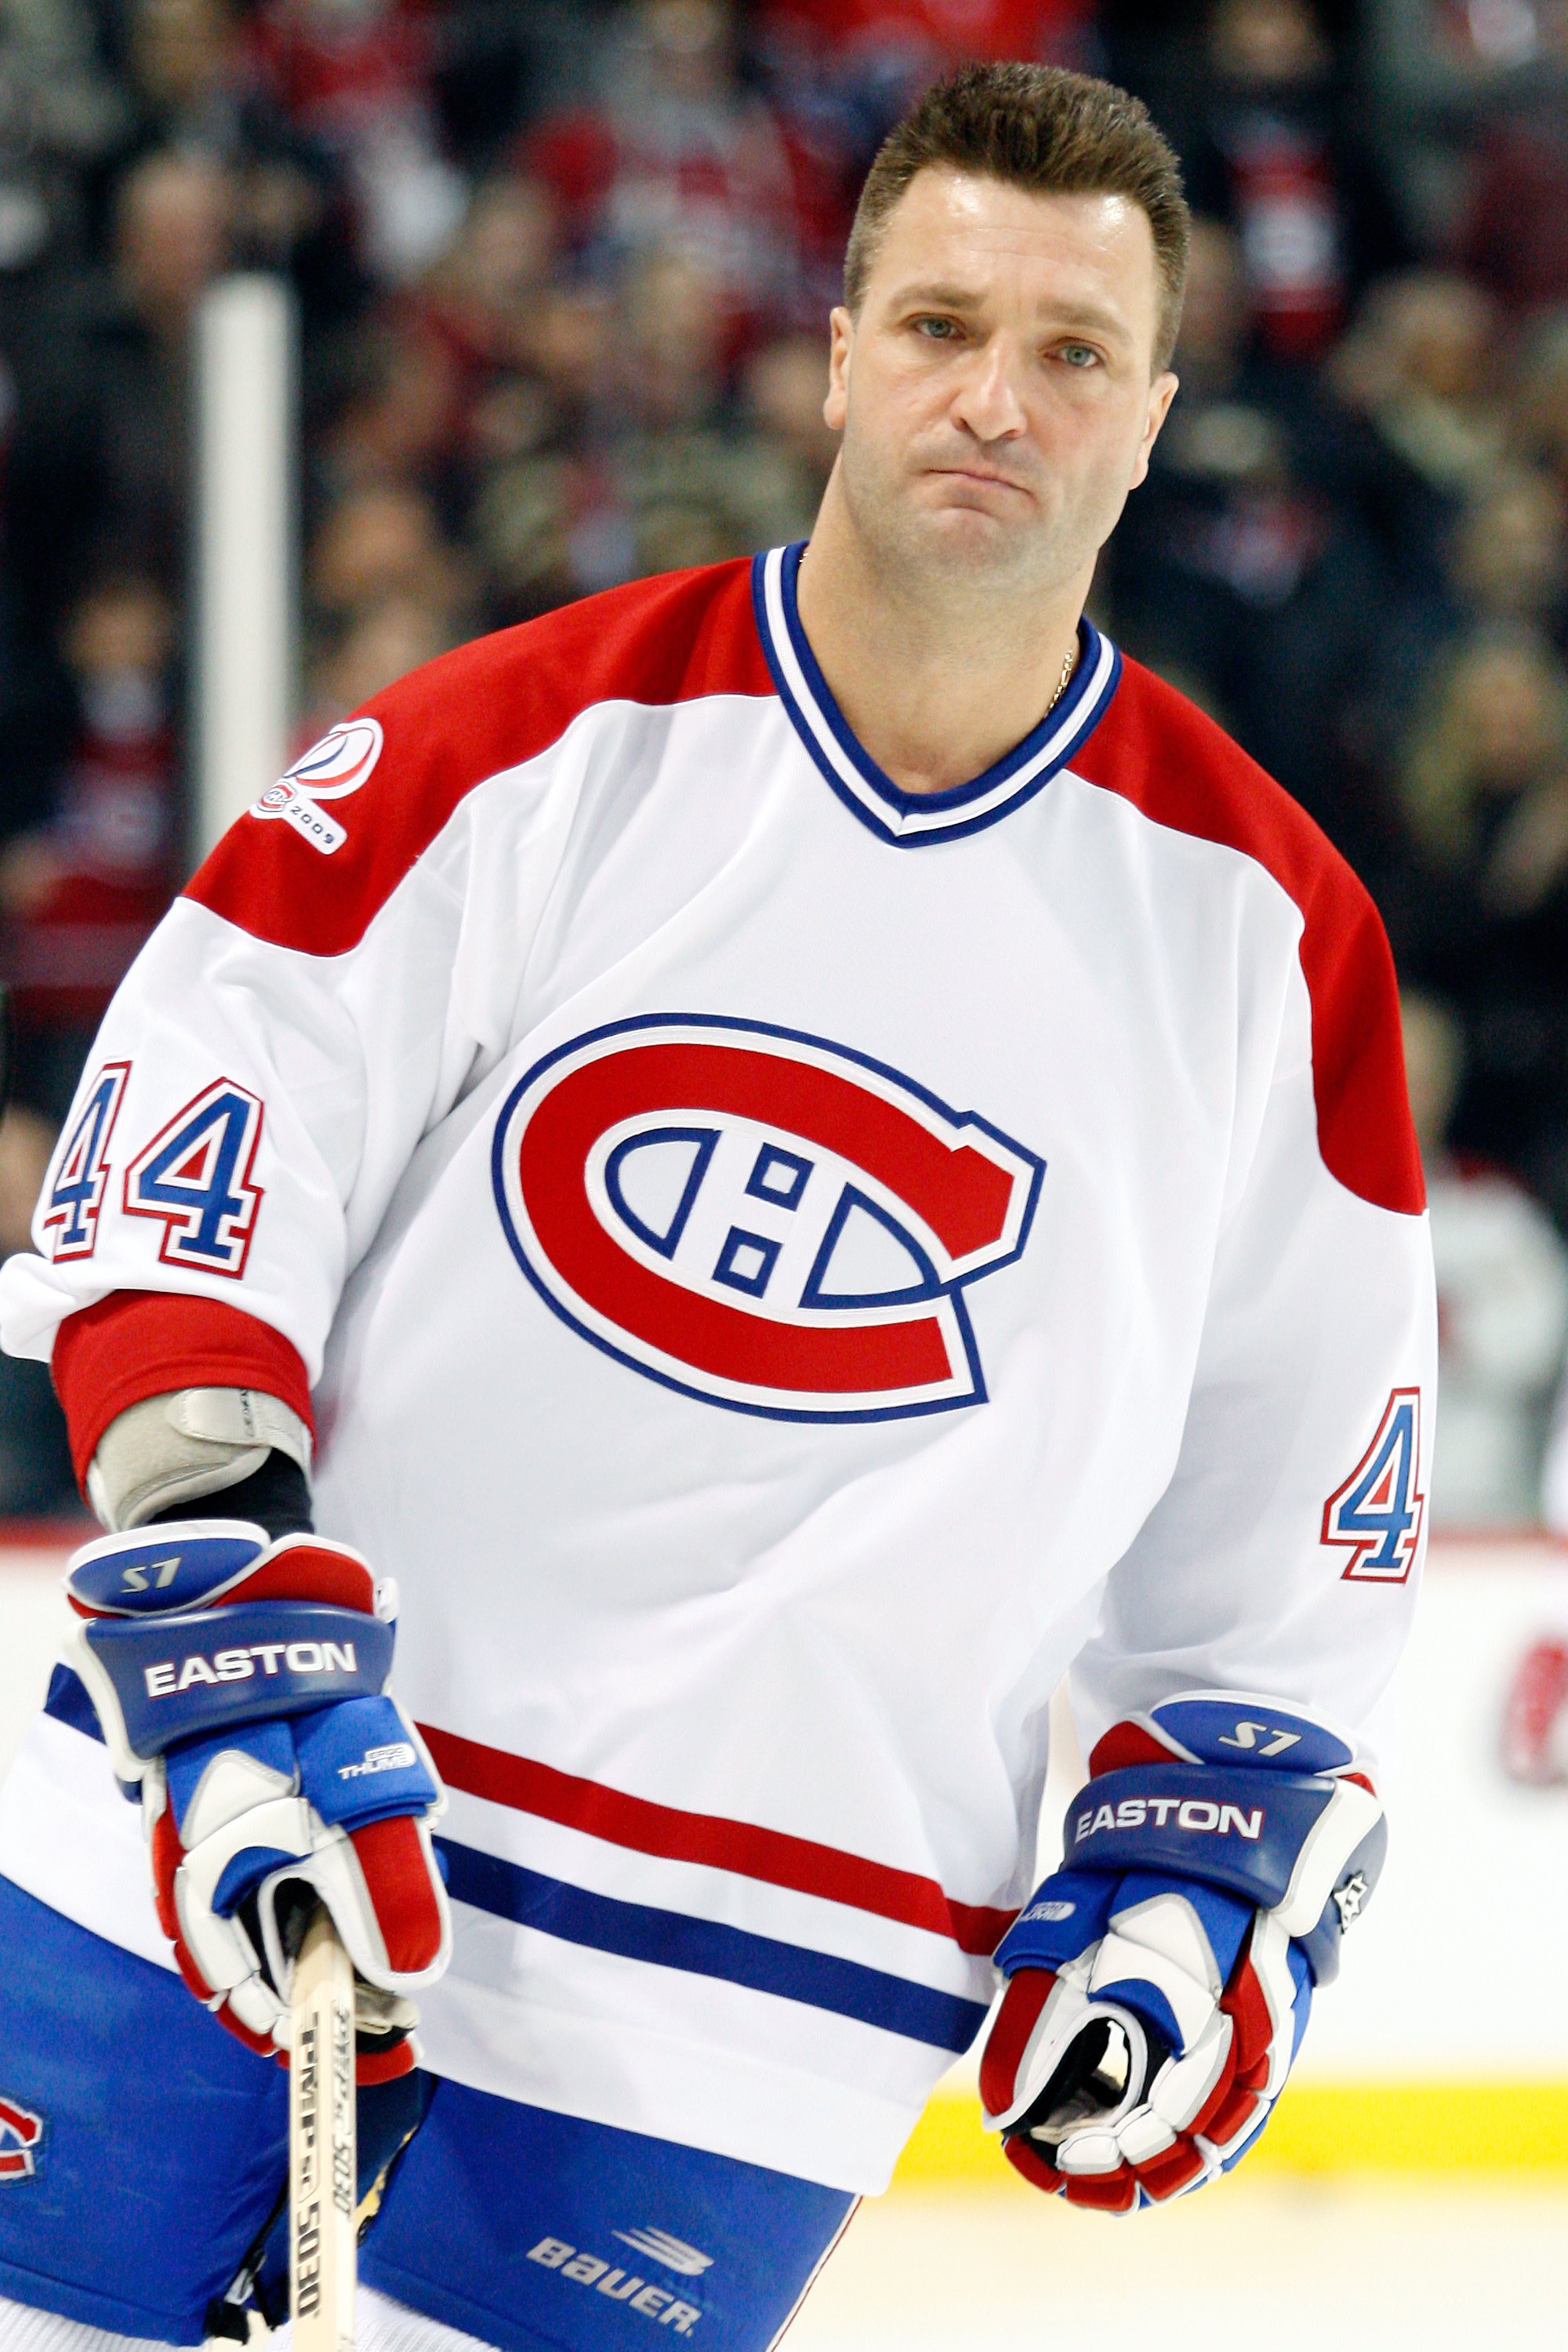
M 1095 619 L 1352 858 L 1406 990 L 1439 1524 L 1568 1526 L 1568 0 L 0 0 L 0 1254 L 186 870 L 193 318 L 289 278 L 299 743 L 567 597 L 811 529 L 879 136 L 1138 89 L 1182 393 Z M 0 1364 L 0 1512 L 68 1503 Z

